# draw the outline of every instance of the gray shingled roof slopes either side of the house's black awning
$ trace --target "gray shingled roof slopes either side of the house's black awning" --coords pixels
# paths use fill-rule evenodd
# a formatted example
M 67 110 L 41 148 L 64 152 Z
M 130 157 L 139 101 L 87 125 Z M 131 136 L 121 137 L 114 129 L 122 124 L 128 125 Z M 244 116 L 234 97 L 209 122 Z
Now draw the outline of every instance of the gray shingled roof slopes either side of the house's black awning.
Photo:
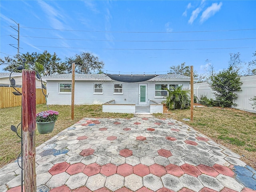
M 122 74 L 120 74 L 122 75 Z M 143 75 L 143 74 L 142 74 Z M 42 77 L 43 79 L 46 80 L 50 80 L 50 79 L 56 79 L 56 78 L 67 78 L 67 79 L 71 79 L 72 78 L 72 74 L 56 74 L 56 75 L 52 75 L 52 76 L 45 76 Z M 106 76 L 106 74 L 75 74 L 75 78 L 88 78 L 88 79 L 110 79 L 108 76 Z M 189 76 L 184 76 L 184 75 L 177 75 L 177 74 L 160 74 L 154 78 L 152 78 L 152 80 L 159 80 L 159 79 L 188 79 L 190 80 Z

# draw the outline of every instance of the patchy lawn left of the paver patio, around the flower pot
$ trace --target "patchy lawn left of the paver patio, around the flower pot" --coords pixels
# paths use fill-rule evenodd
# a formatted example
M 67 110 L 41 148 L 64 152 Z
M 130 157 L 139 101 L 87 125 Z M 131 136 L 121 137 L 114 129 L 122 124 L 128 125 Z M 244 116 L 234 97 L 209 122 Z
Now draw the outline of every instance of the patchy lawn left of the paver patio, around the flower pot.
M 70 105 L 51 105 L 49 109 L 60 112 L 54 130 L 50 134 L 39 134 L 36 130 L 36 146 L 49 140 L 54 135 L 68 128 L 82 118 L 131 118 L 133 114 L 102 113 L 102 105 L 76 105 L 74 120 L 71 120 Z M 36 112 L 47 110 L 45 104 L 38 104 Z M 20 123 L 21 107 L 0 109 L 0 167 L 15 160 L 20 153 L 20 138 L 12 132 L 11 125 Z M 20 132 L 20 127 L 18 129 Z

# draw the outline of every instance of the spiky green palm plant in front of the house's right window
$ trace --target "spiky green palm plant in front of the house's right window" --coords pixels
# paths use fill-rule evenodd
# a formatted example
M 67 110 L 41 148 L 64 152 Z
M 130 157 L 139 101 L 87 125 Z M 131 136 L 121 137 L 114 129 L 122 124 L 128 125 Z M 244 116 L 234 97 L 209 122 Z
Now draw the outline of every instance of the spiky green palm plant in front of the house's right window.
M 169 110 L 174 109 L 184 109 L 189 105 L 189 90 L 188 88 L 182 90 L 182 86 L 178 87 L 170 87 L 172 90 L 168 91 L 168 95 L 166 96 L 166 107 Z

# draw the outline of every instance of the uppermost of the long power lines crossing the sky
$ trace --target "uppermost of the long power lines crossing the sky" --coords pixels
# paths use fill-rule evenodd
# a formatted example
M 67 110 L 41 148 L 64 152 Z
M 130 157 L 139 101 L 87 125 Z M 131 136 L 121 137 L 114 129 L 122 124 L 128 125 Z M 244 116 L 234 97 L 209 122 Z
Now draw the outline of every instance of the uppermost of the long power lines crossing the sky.
M 14 27 L 14 26 L 11 26 Z M 227 32 L 227 31 L 245 31 L 245 30 L 256 30 L 252 29 L 231 29 L 231 30 L 209 30 L 209 31 L 178 31 L 178 32 L 139 32 L 139 31 L 90 31 L 90 30 L 68 30 L 68 29 L 50 29 L 50 28 L 36 28 L 36 27 L 22 27 L 20 28 L 30 28 L 30 29 L 40 29 L 40 30 L 58 30 L 58 31 L 77 31 L 77 32 L 99 32 L 99 33 L 200 33 L 200 32 Z

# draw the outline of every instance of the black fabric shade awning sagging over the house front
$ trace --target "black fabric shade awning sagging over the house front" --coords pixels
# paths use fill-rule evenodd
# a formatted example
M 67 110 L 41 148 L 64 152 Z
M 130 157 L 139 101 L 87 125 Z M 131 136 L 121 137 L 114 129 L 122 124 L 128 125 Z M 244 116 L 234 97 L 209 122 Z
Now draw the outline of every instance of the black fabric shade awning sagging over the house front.
M 118 74 L 106 74 L 112 80 L 120 81 L 120 82 L 142 82 L 150 80 L 158 75 L 118 75 Z

